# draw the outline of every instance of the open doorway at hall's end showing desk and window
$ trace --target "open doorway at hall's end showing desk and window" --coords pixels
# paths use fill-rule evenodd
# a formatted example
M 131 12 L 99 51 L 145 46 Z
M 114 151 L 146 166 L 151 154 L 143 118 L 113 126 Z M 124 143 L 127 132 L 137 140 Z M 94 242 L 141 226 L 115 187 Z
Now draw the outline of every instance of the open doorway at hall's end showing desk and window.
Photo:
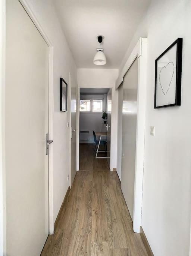
M 80 171 L 110 171 L 111 95 L 109 88 L 79 90 Z

